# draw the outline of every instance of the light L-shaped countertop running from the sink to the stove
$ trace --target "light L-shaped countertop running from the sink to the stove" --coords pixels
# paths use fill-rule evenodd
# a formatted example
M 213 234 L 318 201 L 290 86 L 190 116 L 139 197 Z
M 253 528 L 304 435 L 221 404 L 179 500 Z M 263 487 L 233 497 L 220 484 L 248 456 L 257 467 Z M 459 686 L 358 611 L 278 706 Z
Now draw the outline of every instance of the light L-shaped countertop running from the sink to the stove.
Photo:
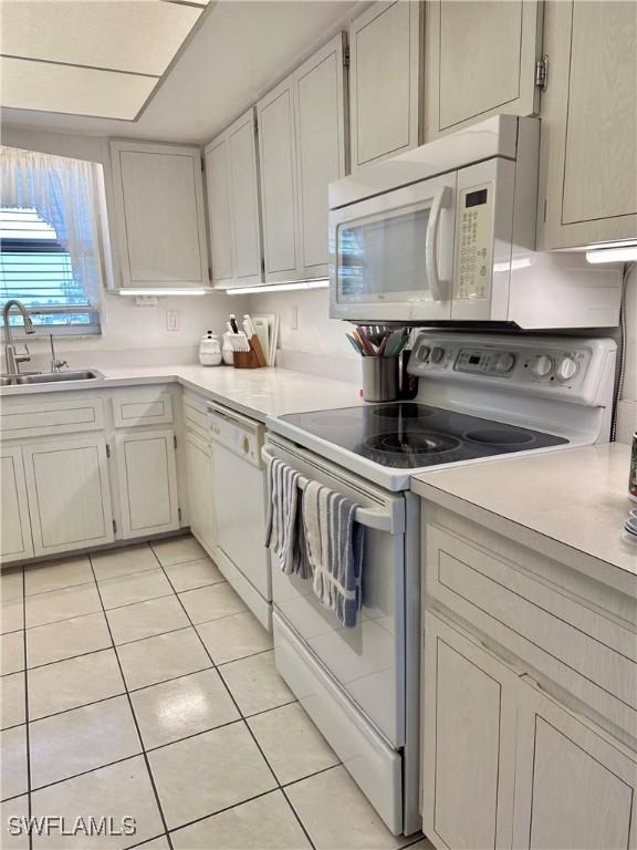
M 231 366 L 166 365 L 101 367 L 104 381 L 59 384 L 27 384 L 2 387 L 0 397 L 15 398 L 40 393 L 76 390 L 111 390 L 140 384 L 180 383 L 210 401 L 261 422 L 268 415 L 349 407 L 363 404 L 358 387 L 344 381 L 292 372 L 288 369 L 233 369 Z

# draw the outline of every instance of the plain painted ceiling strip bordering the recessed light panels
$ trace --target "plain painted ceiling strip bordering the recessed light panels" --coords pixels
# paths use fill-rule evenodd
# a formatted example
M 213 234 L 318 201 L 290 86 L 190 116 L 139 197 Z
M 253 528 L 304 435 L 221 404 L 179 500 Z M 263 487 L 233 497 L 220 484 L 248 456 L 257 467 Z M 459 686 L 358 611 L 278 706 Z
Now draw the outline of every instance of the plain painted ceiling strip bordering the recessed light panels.
M 4 108 L 2 127 L 209 142 L 368 4 L 367 0 L 210 2 L 137 121 Z

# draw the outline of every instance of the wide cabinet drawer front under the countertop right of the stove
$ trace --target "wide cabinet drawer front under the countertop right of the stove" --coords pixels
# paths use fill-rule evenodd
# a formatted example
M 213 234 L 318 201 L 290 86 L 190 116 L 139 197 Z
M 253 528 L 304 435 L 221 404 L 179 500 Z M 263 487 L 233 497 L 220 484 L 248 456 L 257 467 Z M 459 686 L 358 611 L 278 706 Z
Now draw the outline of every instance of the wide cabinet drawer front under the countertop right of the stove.
M 489 549 L 426 526 L 425 587 L 594 711 L 637 734 L 635 633 Z

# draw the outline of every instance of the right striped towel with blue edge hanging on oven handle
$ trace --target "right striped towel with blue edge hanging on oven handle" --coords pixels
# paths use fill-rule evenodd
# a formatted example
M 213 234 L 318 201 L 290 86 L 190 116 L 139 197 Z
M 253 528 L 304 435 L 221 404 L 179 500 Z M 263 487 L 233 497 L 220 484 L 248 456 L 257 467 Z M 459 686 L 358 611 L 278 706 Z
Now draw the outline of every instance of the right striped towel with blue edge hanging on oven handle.
M 347 629 L 361 610 L 363 526 L 355 521 L 356 502 L 317 481 L 303 491 L 305 552 L 314 593 Z

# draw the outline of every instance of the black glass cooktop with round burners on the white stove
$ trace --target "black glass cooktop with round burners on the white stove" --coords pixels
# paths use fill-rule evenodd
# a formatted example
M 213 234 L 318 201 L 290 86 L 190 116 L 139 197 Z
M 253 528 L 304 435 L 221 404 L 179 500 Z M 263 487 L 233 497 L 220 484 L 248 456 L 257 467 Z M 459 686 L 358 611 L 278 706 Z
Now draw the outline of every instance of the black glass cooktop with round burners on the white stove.
M 356 455 L 395 468 L 452 464 L 567 443 L 563 437 L 415 402 L 281 417 Z

